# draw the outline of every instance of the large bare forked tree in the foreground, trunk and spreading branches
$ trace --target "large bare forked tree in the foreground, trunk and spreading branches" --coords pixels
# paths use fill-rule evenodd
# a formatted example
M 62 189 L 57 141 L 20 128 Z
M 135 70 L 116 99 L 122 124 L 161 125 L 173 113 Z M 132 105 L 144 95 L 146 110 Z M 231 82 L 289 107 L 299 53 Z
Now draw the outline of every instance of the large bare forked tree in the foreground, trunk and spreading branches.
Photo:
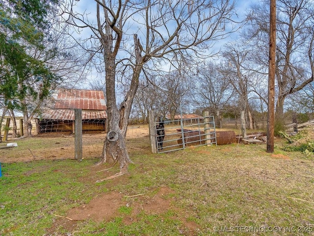
M 64 12 L 67 22 L 80 29 L 88 28 L 85 44 L 91 54 L 98 54 L 105 66 L 108 134 L 100 163 L 120 162 L 120 173 L 127 172 L 131 159 L 125 135 L 134 96 L 143 70 L 156 68 L 158 63 L 188 54 L 208 53 L 218 39 L 234 30 L 234 3 L 229 0 L 159 1 L 159 0 L 95 0 L 89 15 L 70 1 Z M 86 14 L 87 13 L 87 14 Z M 95 16 L 95 18 L 92 18 Z M 159 64 L 160 66 L 160 64 Z M 130 71 L 131 70 L 131 71 Z M 119 78 L 117 77 L 120 73 Z M 125 98 L 118 108 L 116 81 L 127 73 Z

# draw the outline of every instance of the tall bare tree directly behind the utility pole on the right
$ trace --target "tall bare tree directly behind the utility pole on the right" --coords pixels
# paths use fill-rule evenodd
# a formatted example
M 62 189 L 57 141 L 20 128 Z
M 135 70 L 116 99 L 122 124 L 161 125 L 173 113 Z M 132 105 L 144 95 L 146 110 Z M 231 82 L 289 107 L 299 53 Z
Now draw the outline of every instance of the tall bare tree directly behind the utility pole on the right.
M 285 99 L 313 82 L 314 7 L 312 0 L 277 0 L 276 120 L 283 120 Z M 268 68 L 269 1 L 252 7 L 246 36 L 255 48 L 255 62 Z M 261 59 L 262 58 L 262 59 Z

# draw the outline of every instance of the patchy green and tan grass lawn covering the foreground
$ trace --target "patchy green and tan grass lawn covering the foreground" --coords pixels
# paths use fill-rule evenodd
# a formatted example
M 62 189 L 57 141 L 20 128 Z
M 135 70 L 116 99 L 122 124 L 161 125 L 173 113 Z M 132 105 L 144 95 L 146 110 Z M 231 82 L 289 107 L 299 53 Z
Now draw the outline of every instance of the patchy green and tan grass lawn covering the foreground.
M 118 165 L 1 163 L 0 235 L 314 235 L 312 154 L 282 151 L 279 140 L 274 154 L 232 144 L 158 155 L 147 137 L 127 144 L 129 173 L 101 183 Z

